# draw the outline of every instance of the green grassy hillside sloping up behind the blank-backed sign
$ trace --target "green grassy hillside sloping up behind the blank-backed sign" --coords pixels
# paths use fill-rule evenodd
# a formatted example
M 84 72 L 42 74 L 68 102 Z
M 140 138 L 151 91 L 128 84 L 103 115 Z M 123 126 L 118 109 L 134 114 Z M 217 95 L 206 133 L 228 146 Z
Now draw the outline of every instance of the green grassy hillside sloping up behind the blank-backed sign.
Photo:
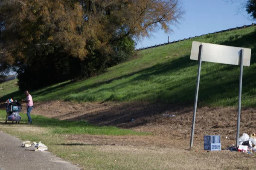
M 193 40 L 252 49 L 251 65 L 244 67 L 242 105 L 255 107 L 255 27 Z M 32 95 L 35 101 L 162 101 L 193 105 L 198 69 L 198 62 L 189 59 L 193 40 L 140 51 L 136 59 L 109 68 L 105 74 L 79 82 L 52 85 L 33 91 Z M 5 101 L 9 97 L 20 99 L 23 92 L 17 91 L 13 83 L 0 85 L 0 100 Z M 237 105 L 238 89 L 239 66 L 202 63 L 199 105 Z

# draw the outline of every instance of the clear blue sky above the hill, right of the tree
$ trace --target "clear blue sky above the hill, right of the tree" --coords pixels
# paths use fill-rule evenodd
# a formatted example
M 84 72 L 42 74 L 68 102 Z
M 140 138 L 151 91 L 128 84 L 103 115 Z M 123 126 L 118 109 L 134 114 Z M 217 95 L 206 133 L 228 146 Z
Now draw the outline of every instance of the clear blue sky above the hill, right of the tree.
M 137 42 L 137 48 L 163 44 L 168 42 L 168 36 L 172 42 L 195 35 L 250 25 L 253 20 L 249 19 L 246 11 L 238 13 L 242 1 L 244 0 L 227 3 L 227 0 L 183 0 L 186 14 L 183 15 L 183 20 L 177 27 L 172 27 L 173 32 L 165 34 L 164 31 L 159 30 L 150 38 L 144 38 Z

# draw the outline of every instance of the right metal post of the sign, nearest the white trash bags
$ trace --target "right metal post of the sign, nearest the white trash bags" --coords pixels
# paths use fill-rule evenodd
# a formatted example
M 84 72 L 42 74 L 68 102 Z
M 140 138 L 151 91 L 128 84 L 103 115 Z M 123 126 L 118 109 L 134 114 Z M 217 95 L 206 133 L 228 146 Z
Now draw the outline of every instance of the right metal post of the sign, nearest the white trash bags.
M 240 133 L 240 116 L 241 116 L 241 96 L 242 96 L 242 80 L 243 80 L 243 59 L 244 50 L 240 51 L 239 55 L 240 64 L 240 76 L 239 76 L 239 94 L 238 94 L 238 112 L 237 112 L 237 128 L 236 128 L 236 147 L 239 145 L 239 133 Z

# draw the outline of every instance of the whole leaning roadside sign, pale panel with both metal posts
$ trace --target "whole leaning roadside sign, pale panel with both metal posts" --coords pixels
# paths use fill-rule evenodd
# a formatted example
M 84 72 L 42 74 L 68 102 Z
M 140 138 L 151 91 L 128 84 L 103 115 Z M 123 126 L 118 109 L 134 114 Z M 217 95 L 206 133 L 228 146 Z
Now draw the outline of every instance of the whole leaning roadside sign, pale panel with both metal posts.
M 203 51 L 204 47 L 204 51 Z M 199 49 L 199 50 L 198 50 Z M 190 147 L 193 146 L 195 133 L 195 117 L 198 103 L 198 91 L 201 75 L 202 61 L 216 62 L 222 64 L 240 65 L 240 79 L 239 79 L 239 100 L 237 113 L 237 130 L 236 130 L 236 147 L 239 144 L 240 133 L 240 116 L 241 116 L 241 95 L 242 95 L 242 78 L 243 66 L 250 66 L 251 49 L 241 47 L 230 47 L 226 45 L 209 44 L 204 42 L 193 41 L 190 59 L 198 60 L 198 76 L 195 90 L 195 103 L 193 111 L 193 121 L 191 128 Z

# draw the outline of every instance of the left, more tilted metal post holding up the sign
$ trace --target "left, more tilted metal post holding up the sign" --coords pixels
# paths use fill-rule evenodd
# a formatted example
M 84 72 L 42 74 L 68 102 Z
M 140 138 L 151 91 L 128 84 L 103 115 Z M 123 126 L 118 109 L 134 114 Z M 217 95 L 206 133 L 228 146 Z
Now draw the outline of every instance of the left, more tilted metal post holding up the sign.
M 191 128 L 190 147 L 193 146 L 194 133 L 195 133 L 195 116 L 196 116 L 199 82 L 200 82 L 200 75 L 201 75 L 202 54 L 203 54 L 202 51 L 203 51 L 203 45 L 201 44 L 199 46 L 199 53 L 198 53 L 198 77 L 197 77 L 196 89 L 195 89 L 195 103 L 194 103 L 194 111 L 193 111 L 193 122 L 192 122 L 192 128 Z

